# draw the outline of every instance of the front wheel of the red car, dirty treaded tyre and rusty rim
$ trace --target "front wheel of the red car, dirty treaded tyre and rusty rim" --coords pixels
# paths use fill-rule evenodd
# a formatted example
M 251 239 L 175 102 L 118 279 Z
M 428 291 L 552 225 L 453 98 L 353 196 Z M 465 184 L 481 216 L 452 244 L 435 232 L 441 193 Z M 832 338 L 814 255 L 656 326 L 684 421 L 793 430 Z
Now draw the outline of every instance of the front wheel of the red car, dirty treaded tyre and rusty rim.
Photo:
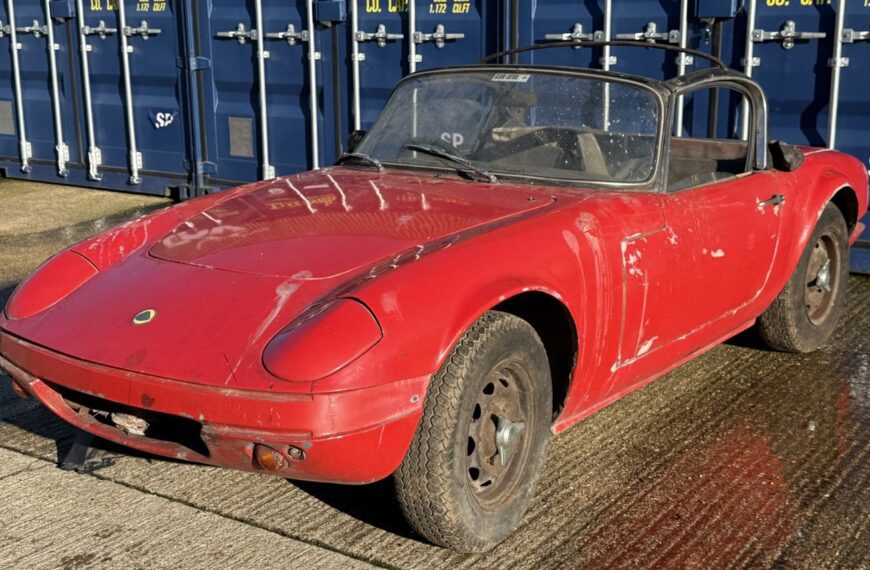
M 547 354 L 524 320 L 481 317 L 432 378 L 396 492 L 405 518 L 461 552 L 498 544 L 521 522 L 546 456 Z

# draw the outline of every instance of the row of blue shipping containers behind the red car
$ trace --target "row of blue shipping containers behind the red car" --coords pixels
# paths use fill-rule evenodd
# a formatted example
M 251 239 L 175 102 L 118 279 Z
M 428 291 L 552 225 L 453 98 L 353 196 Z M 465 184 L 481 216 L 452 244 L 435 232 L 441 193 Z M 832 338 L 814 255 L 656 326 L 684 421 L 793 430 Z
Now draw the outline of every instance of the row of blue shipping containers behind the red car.
M 395 82 L 416 69 L 472 63 L 513 45 L 608 37 L 711 52 L 721 42 L 724 59 L 765 87 L 773 137 L 819 146 L 836 139 L 867 163 L 866 4 L 2 0 L 0 168 L 10 177 L 196 195 L 332 162 L 347 134 L 369 126 Z M 619 48 L 519 59 L 653 77 L 705 65 Z M 707 102 L 687 100 L 683 112 L 684 134 L 705 132 Z M 739 132 L 739 102 L 720 102 L 716 119 L 719 134 Z

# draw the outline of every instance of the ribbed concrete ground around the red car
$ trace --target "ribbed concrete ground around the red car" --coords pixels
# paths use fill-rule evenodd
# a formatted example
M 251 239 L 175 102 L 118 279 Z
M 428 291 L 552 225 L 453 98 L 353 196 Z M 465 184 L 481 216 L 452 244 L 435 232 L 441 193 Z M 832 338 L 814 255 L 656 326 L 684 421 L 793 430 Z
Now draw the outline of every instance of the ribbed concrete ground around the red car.
M 67 244 L 165 202 L 0 181 L 0 304 Z M 432 547 L 389 481 L 295 483 L 109 448 L 0 381 L 0 568 L 870 568 L 870 278 L 830 347 L 738 338 L 557 437 L 537 500 L 479 556 Z

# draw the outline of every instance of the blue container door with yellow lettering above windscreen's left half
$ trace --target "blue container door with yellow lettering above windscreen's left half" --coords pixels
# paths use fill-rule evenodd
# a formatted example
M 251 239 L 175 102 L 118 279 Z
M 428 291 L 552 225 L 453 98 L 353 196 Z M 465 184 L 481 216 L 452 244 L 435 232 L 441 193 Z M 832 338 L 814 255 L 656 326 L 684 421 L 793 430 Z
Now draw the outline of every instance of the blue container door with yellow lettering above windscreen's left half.
M 414 71 L 476 63 L 499 45 L 500 6 L 483 0 L 349 0 L 352 124 L 367 128 Z M 355 44 L 355 46 L 353 45 Z

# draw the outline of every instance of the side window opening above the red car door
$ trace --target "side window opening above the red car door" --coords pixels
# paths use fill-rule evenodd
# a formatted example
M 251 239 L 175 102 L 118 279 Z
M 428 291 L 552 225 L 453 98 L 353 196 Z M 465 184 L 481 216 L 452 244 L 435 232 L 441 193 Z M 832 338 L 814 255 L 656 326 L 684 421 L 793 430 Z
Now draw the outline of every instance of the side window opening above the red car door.
M 682 136 L 671 138 L 668 156 L 668 192 L 746 172 L 749 144 L 740 136 L 743 94 L 715 87 L 692 91 L 683 98 Z M 677 125 L 672 132 L 678 132 Z

